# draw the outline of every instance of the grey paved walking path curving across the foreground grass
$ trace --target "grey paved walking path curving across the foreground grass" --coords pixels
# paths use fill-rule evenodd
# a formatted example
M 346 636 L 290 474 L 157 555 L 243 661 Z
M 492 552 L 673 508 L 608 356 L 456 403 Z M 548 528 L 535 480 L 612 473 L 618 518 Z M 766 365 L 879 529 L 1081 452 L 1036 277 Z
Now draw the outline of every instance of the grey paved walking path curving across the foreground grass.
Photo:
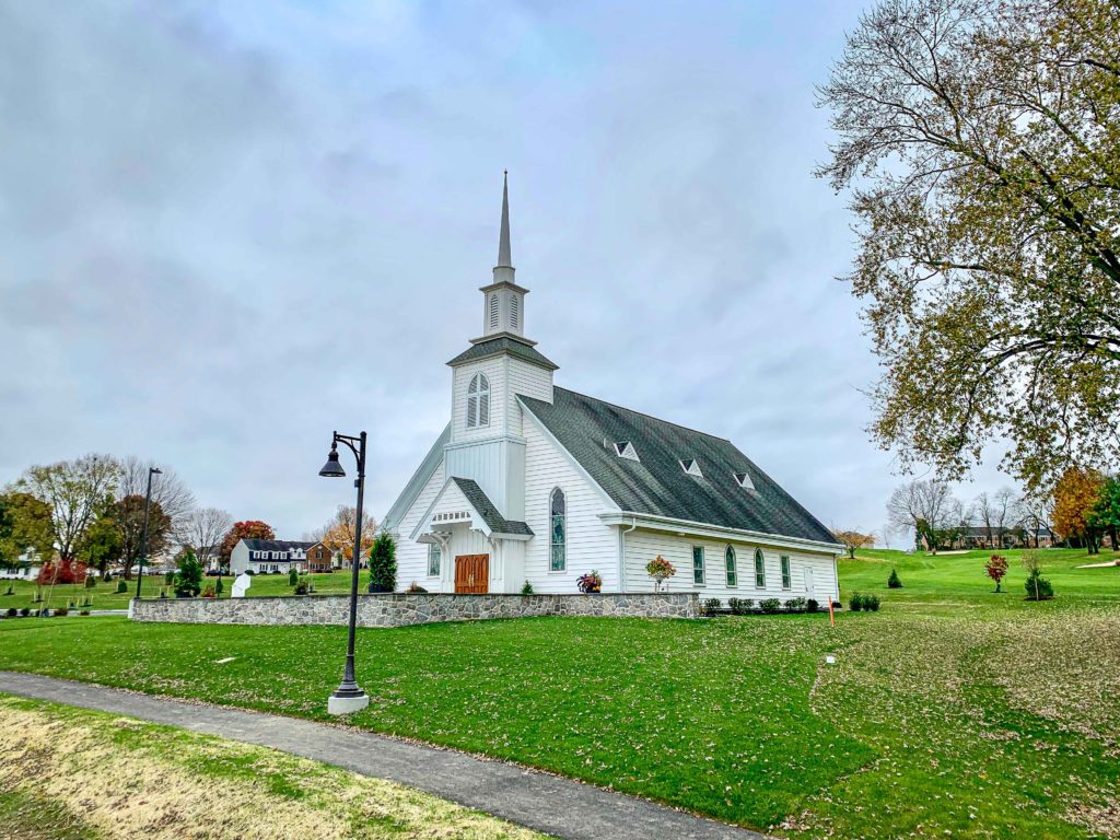
M 0 671 L 0 691 L 272 747 L 365 776 L 400 782 L 572 840 L 762 840 L 764 837 L 569 778 L 309 720 L 199 706 L 8 671 Z

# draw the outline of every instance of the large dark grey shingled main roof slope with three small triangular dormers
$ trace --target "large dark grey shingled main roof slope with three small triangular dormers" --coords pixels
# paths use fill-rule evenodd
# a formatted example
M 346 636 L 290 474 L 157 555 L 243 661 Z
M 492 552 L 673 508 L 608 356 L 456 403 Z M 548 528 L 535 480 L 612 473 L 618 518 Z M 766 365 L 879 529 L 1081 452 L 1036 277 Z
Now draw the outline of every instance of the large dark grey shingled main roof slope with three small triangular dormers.
M 729 440 L 562 388 L 553 389 L 551 404 L 521 399 L 623 511 L 836 542 Z M 623 440 L 634 445 L 640 461 L 615 454 L 614 444 Z M 684 473 L 680 461 L 689 458 L 702 478 Z M 740 487 L 735 473 L 747 473 L 755 489 Z

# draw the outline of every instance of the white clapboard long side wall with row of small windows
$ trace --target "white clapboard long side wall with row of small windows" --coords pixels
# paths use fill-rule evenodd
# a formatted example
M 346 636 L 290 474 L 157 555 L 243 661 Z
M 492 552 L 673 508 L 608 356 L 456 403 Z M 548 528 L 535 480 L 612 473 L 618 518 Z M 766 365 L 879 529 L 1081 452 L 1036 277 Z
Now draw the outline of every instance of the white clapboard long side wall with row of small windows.
M 757 543 L 716 542 L 709 539 L 689 539 L 676 534 L 637 530 L 626 534 L 626 590 L 650 591 L 653 579 L 645 566 L 659 554 L 676 568 L 676 575 L 665 581 L 669 591 L 697 592 L 701 598 L 815 598 L 821 604 L 836 594 L 834 563 L 830 554 L 775 549 Z M 735 548 L 737 580 L 735 587 L 727 585 L 725 552 L 728 544 Z M 692 577 L 692 547 L 704 550 L 704 582 L 698 585 Z M 766 569 L 766 587 L 755 586 L 755 549 L 762 548 Z M 782 588 L 782 556 L 790 558 L 791 586 Z M 805 588 L 805 569 L 812 568 L 813 590 Z

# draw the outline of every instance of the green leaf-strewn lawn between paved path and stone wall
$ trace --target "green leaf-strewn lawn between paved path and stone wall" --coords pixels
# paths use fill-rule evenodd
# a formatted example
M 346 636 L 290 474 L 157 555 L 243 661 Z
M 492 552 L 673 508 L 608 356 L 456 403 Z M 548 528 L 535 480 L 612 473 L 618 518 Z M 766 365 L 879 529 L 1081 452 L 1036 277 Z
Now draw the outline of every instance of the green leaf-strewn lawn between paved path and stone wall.
M 841 582 L 883 610 L 836 628 L 814 615 L 362 629 L 373 703 L 351 722 L 796 837 L 1114 834 L 1120 570 L 1076 570 L 1076 554 L 1045 554 L 1057 598 L 1029 604 L 1014 559 L 996 595 L 986 552 L 868 552 Z M 892 564 L 902 590 L 886 588 Z M 0 622 L 0 668 L 326 719 L 344 640 L 18 619 Z

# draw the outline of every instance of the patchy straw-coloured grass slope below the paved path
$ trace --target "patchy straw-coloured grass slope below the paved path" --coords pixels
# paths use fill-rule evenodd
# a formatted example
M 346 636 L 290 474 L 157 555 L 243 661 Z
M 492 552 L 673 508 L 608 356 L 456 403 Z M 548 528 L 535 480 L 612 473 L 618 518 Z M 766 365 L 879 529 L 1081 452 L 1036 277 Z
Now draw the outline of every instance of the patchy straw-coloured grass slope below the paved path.
M 541 837 L 282 753 L 0 694 L 6 838 Z

